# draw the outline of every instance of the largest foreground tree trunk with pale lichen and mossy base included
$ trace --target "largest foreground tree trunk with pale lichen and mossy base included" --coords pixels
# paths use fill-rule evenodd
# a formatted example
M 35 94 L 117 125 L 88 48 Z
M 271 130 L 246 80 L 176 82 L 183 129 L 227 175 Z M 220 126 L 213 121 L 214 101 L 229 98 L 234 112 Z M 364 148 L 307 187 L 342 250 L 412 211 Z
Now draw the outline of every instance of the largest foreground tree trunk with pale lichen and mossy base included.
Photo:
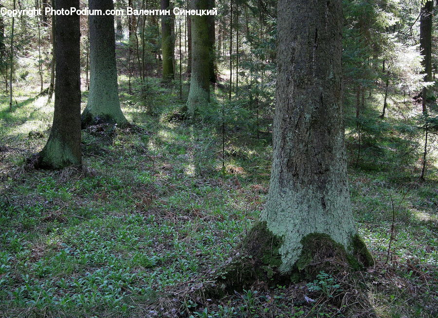
M 299 278 L 316 259 L 372 257 L 351 212 L 344 145 L 341 0 L 279 0 L 274 154 L 267 203 L 225 266 L 228 286 Z M 309 273 L 309 272 L 307 272 Z

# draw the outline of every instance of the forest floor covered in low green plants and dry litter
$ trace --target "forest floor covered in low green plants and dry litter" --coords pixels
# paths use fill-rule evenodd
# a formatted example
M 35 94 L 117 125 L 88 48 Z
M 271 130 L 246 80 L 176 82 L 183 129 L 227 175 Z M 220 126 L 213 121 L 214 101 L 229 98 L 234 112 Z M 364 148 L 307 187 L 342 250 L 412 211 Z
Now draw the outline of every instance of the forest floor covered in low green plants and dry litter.
M 197 293 L 263 209 L 271 137 L 228 131 L 222 169 L 218 130 L 181 121 L 178 89 L 150 81 L 154 116 L 121 78 L 133 126 L 83 130 L 81 171 L 26 164 L 48 138 L 47 96 L 23 86 L 12 112 L 1 98 L 1 317 L 437 317 L 438 179 L 390 165 L 348 168 L 375 267 Z

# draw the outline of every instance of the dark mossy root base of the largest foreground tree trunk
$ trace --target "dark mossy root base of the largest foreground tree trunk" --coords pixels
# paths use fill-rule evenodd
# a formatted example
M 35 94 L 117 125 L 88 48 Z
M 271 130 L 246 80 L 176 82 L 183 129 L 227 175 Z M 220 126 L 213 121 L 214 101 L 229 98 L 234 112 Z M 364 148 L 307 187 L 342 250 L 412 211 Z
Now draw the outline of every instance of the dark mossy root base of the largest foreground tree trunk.
M 265 221 L 258 221 L 237 247 L 235 256 L 219 270 L 219 290 L 240 290 L 256 281 L 284 285 L 312 280 L 323 269 L 333 272 L 346 268 L 360 270 L 374 265 L 372 255 L 358 234 L 351 238 L 351 245 L 346 249 L 327 234 L 311 233 L 302 238 L 303 248 L 295 265 L 282 271 L 280 247 L 283 243 L 281 237 L 268 229 Z

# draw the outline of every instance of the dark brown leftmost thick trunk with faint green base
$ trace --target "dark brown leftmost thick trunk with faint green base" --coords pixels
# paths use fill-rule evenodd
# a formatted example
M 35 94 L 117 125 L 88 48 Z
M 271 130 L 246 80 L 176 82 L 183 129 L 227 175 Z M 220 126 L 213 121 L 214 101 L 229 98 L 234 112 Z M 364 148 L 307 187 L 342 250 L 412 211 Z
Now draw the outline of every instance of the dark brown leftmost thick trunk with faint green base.
M 79 0 L 56 0 L 56 9 L 79 9 Z M 55 112 L 49 140 L 36 166 L 60 169 L 81 164 L 79 16 L 56 17 Z

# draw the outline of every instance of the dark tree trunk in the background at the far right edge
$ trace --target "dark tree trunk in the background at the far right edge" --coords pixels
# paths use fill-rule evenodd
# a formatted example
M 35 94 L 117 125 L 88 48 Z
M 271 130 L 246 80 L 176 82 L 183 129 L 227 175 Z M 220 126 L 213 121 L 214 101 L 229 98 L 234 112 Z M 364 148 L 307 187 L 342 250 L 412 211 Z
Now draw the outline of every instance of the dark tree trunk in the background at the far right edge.
M 423 55 L 422 66 L 424 68 L 424 81 L 432 81 L 432 18 L 434 2 L 426 1 L 420 12 L 420 53 Z M 426 112 L 426 100 L 428 89 L 423 88 L 422 110 Z

